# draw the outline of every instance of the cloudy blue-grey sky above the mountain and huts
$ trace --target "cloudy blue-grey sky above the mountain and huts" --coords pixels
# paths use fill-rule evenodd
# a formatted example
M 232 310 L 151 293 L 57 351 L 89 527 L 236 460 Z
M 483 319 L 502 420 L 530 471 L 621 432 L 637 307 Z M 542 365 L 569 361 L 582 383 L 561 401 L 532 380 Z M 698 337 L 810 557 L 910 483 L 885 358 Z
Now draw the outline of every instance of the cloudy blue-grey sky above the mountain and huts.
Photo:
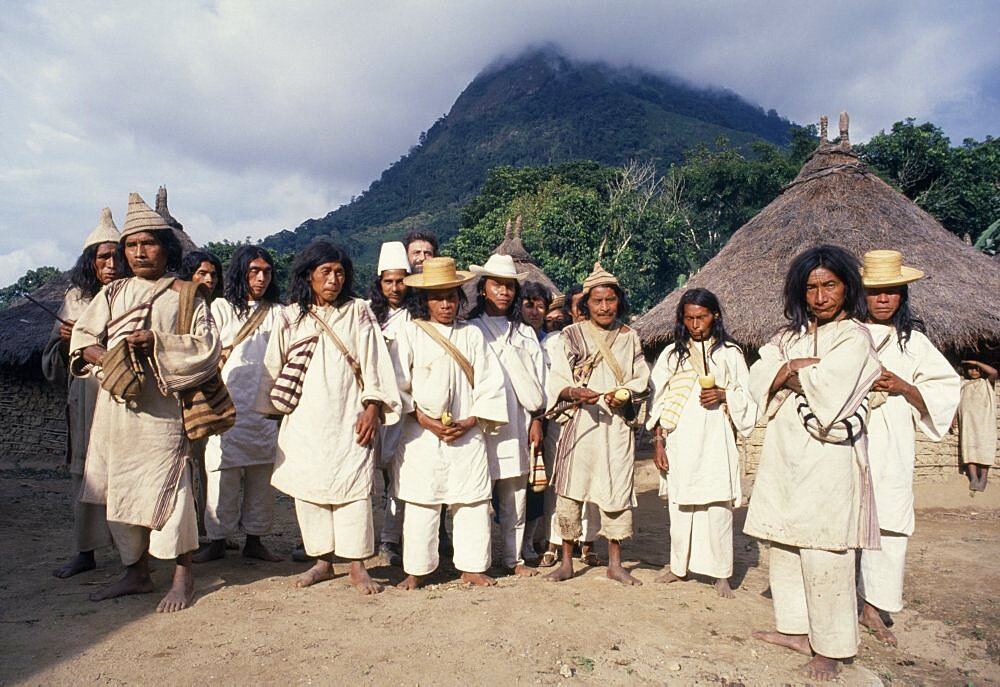
M 197 243 L 322 216 L 542 43 L 799 123 L 846 109 L 853 140 L 905 117 L 997 136 L 998 25 L 993 0 L 4 2 L 0 286 L 70 266 L 102 207 L 121 226 L 160 184 Z

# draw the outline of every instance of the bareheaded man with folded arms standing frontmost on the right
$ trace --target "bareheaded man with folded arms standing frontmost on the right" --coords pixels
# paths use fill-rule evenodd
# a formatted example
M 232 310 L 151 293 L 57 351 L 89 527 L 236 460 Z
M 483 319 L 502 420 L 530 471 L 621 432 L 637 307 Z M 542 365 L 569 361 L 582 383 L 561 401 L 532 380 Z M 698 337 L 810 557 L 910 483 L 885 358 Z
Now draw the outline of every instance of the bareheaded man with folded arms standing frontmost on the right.
M 819 245 L 785 278 L 788 328 L 760 349 L 750 392 L 769 418 L 743 531 L 770 546 L 777 631 L 753 636 L 812 659 L 831 680 L 857 653 L 854 549 L 878 547 L 864 402 L 881 367 L 858 260 Z

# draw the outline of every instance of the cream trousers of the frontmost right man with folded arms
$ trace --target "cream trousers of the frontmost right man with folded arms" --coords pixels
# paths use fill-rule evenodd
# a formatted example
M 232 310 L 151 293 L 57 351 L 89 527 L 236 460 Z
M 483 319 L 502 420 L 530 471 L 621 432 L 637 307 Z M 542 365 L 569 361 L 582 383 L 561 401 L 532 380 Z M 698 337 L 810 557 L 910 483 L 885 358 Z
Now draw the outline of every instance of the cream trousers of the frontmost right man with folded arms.
M 809 635 L 827 658 L 858 652 L 854 550 L 821 551 L 771 543 L 771 597 L 778 632 Z

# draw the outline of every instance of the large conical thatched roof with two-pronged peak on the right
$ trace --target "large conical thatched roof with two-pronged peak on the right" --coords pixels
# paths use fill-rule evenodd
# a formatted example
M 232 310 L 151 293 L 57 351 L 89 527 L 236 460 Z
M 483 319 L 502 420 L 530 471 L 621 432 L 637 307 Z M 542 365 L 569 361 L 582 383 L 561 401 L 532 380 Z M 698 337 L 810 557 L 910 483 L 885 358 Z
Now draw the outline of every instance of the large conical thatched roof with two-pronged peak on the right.
M 899 250 L 905 264 L 926 272 L 910 285 L 911 304 L 942 350 L 1000 344 L 1000 265 L 879 179 L 851 151 L 847 134 L 842 116 L 840 143 L 828 143 L 824 122 L 820 145 L 799 175 L 687 284 L 635 322 L 645 346 L 670 340 L 681 294 L 702 287 L 722 301 L 730 334 L 759 348 L 786 324 L 781 290 L 789 264 L 820 243 L 859 258 L 878 248 Z

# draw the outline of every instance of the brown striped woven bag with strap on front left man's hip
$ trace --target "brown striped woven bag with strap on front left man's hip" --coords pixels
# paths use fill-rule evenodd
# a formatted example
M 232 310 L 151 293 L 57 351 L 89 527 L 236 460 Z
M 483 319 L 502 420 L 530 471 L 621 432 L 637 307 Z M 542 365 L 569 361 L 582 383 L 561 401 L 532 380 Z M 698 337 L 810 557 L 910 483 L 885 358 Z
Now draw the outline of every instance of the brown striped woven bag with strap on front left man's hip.
M 180 287 L 177 333 L 190 334 L 194 324 L 195 296 L 203 287 L 201 284 L 180 280 L 175 284 Z M 236 406 L 218 369 L 210 379 L 191 389 L 184 389 L 178 393 L 178 397 L 184 416 L 184 432 L 191 441 L 222 434 L 236 424 Z

